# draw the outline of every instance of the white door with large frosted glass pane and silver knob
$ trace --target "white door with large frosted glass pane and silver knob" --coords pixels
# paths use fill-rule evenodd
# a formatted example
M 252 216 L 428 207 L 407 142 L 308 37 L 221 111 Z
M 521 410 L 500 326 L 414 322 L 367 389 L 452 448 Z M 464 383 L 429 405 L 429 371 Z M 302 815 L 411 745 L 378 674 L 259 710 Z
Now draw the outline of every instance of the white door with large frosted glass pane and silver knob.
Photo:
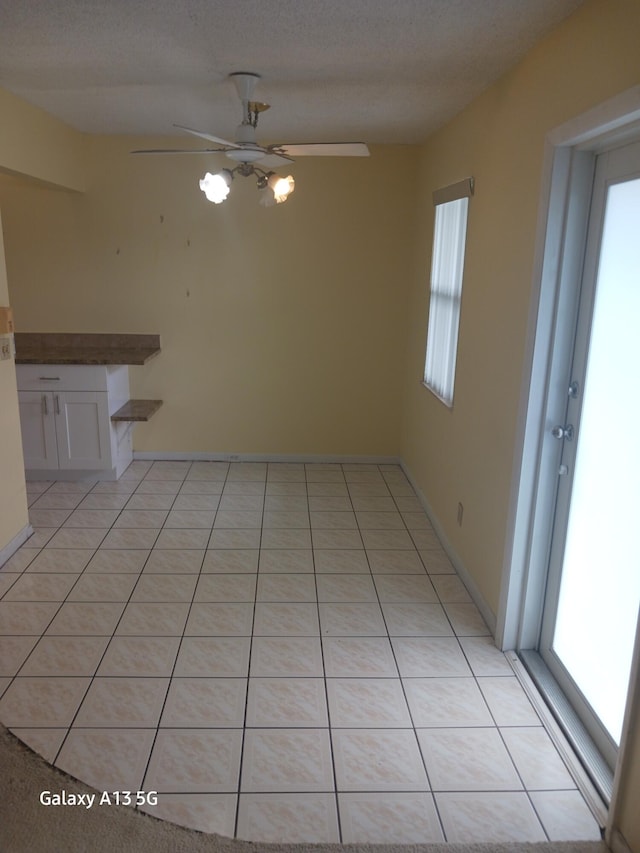
M 640 604 L 640 143 L 600 154 L 540 655 L 615 764 Z

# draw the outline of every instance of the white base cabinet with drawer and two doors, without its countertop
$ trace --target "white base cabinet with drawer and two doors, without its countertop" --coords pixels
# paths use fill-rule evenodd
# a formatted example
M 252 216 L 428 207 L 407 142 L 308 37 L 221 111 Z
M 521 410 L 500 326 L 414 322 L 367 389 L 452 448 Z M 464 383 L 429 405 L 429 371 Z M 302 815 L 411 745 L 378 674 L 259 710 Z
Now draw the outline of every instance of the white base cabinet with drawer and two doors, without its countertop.
M 113 423 L 129 397 L 126 365 L 18 365 L 29 479 L 117 479 L 132 458 L 131 424 Z

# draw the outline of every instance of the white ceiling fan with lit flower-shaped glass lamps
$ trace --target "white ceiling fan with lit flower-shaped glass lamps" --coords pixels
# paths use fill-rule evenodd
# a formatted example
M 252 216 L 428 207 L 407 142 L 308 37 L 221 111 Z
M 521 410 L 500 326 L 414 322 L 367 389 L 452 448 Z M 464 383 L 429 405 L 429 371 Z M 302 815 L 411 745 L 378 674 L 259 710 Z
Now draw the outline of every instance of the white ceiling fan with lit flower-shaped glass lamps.
M 132 151 L 132 154 L 226 154 L 237 165 L 233 169 L 222 169 L 216 175 L 207 173 L 200 181 L 200 189 L 210 201 L 224 201 L 229 192 L 229 185 L 235 174 L 248 177 L 256 175 L 258 188 L 272 190 L 273 195 L 263 197 L 263 203 L 274 204 L 285 201 L 293 192 L 294 180 L 289 175 L 281 178 L 270 169 L 287 166 L 294 162 L 295 157 L 368 157 L 369 149 L 364 142 L 310 142 L 288 143 L 276 142 L 271 145 L 260 145 L 256 139 L 256 128 L 260 113 L 269 109 L 269 104 L 253 100 L 255 85 L 260 75 L 249 71 L 236 71 L 229 75 L 233 80 L 238 98 L 242 104 L 242 121 L 236 128 L 233 142 L 195 130 L 192 127 L 174 124 L 173 126 L 185 133 L 190 133 L 200 139 L 216 143 L 216 148 L 148 148 Z M 284 182 L 284 183 L 283 183 Z M 286 186 L 285 186 L 286 184 Z M 278 185 L 276 187 L 276 185 Z M 222 196 L 222 197 L 220 197 Z

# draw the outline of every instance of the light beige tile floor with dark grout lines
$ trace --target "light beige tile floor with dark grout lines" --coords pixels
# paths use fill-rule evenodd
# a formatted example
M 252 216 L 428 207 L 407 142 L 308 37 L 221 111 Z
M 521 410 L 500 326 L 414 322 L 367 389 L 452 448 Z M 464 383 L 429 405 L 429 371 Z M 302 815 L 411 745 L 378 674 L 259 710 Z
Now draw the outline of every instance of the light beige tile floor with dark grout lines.
M 255 841 L 599 838 L 399 467 L 28 492 L 0 720 L 57 767 Z

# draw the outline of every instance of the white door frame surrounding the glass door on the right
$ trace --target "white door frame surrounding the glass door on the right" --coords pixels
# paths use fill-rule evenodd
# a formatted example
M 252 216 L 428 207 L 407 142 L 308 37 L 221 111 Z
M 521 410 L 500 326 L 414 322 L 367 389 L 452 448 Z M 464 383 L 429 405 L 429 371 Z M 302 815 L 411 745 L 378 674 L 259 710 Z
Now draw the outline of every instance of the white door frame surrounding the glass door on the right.
M 560 442 L 549 442 L 560 423 L 570 377 L 576 300 L 579 298 L 595 160 L 599 153 L 640 139 L 640 86 L 555 128 L 546 137 L 536 228 L 532 295 L 518 407 L 507 537 L 502 566 L 496 644 L 533 649 L 540 633 L 550 549 L 550 519 Z M 556 330 L 571 331 L 560 346 Z M 565 374 L 568 371 L 565 369 Z M 554 409 L 560 412 L 554 419 Z M 636 634 L 619 756 L 624 758 L 632 699 L 640 692 L 640 632 Z M 610 821 L 621 766 L 618 760 Z M 611 824 L 610 824 L 611 825 Z

